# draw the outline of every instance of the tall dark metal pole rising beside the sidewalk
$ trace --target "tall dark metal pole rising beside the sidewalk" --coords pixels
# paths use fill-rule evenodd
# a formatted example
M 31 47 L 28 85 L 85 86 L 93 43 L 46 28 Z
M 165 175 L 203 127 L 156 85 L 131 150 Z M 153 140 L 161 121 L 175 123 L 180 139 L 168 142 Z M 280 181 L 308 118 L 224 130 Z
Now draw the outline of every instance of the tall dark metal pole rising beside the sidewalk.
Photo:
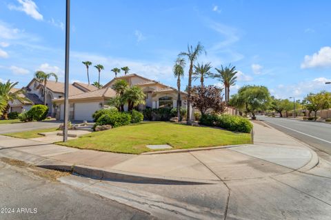
M 70 0 L 66 0 L 66 61 L 64 77 L 64 117 L 63 117 L 63 142 L 68 140 L 69 119 L 69 48 L 70 48 Z

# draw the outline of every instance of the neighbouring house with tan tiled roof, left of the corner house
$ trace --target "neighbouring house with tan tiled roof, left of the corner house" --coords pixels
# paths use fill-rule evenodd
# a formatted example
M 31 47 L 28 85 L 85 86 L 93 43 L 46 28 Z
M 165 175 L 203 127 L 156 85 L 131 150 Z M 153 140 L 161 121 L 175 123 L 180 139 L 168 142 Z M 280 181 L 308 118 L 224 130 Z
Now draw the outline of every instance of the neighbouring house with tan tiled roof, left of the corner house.
M 46 84 L 46 106 L 48 106 L 48 114 L 54 116 L 54 106 L 52 106 L 53 99 L 59 99 L 64 96 L 64 83 L 56 81 L 47 81 Z M 33 105 L 43 104 L 45 97 L 43 91 L 43 85 L 37 80 L 32 79 L 28 86 L 23 88 L 26 93 L 22 94 L 22 97 L 28 99 L 28 101 L 14 100 L 9 103 L 10 112 L 22 112 L 23 110 L 30 110 Z M 84 92 L 90 92 L 92 90 L 97 90 L 95 86 L 87 85 L 85 83 L 72 83 L 69 85 L 69 95 L 81 94 Z M 18 90 L 15 88 L 15 90 Z

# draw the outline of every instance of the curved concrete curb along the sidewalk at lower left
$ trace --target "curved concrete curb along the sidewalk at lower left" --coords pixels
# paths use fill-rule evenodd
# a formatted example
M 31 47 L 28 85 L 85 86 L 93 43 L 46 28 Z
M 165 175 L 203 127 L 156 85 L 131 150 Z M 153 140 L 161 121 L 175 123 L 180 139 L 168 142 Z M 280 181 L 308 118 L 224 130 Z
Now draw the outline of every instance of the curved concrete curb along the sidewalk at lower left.
M 174 185 L 201 185 L 201 184 L 217 184 L 220 181 L 208 179 L 190 179 L 181 177 L 163 177 L 154 174 L 140 174 L 134 172 L 123 172 L 121 170 L 103 170 L 90 166 L 75 165 L 58 161 L 55 159 L 48 159 L 47 157 L 40 157 L 34 154 L 27 154 L 19 150 L 2 149 L 0 150 L 1 157 L 9 157 L 30 163 L 33 166 L 46 168 L 51 170 L 61 170 L 72 172 L 72 174 L 79 174 L 84 177 L 92 179 L 102 179 L 108 181 L 123 181 L 128 183 L 150 183 L 150 184 L 174 184 Z

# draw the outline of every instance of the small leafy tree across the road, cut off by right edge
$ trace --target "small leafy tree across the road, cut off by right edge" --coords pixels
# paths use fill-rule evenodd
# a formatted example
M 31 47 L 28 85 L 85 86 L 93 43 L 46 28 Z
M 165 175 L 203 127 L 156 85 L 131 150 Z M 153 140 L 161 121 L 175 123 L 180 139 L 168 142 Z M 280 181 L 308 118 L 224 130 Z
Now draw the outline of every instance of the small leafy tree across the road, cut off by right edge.
M 317 94 L 310 93 L 303 99 L 303 106 L 310 112 L 314 112 L 314 120 L 317 120 L 317 111 L 330 108 L 331 94 L 330 92 L 319 92 Z

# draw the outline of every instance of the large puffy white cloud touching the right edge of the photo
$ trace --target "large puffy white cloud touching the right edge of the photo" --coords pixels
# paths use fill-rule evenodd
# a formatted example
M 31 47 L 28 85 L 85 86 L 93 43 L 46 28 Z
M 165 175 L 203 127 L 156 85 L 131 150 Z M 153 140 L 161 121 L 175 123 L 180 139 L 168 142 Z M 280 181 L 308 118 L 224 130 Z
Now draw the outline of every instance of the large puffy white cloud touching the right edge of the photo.
M 301 68 L 331 67 L 331 48 L 326 46 L 315 52 L 312 56 L 305 55 Z

